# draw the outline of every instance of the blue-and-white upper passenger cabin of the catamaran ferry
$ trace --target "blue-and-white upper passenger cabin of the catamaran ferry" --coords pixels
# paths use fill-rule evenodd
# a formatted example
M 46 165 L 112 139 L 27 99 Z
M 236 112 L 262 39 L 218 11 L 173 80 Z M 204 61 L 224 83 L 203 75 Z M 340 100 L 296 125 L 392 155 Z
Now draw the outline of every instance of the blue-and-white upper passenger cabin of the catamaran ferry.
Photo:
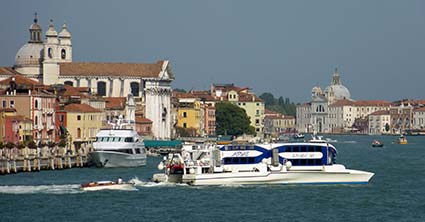
M 321 166 L 332 165 L 337 154 L 327 143 L 224 145 L 219 149 L 223 164 L 256 164 L 271 158 L 280 164 L 291 161 L 293 166 Z

